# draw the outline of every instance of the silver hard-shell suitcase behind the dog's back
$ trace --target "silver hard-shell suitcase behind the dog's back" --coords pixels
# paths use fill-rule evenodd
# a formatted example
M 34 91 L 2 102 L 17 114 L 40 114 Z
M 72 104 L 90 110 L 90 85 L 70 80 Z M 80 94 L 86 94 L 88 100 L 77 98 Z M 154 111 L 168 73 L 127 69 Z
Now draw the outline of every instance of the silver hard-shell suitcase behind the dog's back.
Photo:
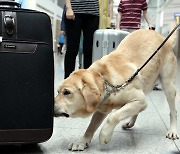
M 96 61 L 115 50 L 129 32 L 115 29 L 98 29 L 93 38 L 92 61 Z

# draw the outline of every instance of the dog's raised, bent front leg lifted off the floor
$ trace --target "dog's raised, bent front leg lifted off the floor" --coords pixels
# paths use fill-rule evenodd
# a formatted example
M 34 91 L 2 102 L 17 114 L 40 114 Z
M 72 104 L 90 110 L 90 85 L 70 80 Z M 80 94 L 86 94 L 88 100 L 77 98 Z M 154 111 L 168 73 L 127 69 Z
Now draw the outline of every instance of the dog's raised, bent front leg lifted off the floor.
M 100 144 L 107 144 L 111 140 L 114 128 L 121 120 L 138 115 L 138 113 L 143 111 L 146 106 L 147 103 L 145 102 L 145 100 L 134 101 L 131 103 L 127 103 L 121 109 L 112 113 L 101 129 L 99 135 Z

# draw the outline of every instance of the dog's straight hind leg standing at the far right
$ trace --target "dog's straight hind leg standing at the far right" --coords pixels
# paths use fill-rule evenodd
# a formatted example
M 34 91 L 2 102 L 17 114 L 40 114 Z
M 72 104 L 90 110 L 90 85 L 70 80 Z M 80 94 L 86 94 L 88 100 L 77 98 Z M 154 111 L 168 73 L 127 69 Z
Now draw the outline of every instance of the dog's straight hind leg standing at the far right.
M 168 62 L 168 66 L 164 66 L 163 69 L 164 71 L 161 73 L 161 84 L 170 109 L 170 128 L 166 137 L 175 140 L 179 139 L 179 135 L 177 133 L 177 111 L 175 106 L 176 60 Z

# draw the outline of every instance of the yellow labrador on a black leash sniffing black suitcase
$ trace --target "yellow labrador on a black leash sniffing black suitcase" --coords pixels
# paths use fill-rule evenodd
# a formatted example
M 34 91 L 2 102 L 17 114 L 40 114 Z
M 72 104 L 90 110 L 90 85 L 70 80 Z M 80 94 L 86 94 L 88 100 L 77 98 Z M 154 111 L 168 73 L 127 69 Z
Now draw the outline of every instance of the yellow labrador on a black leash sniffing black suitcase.
M 169 139 L 178 139 L 175 109 L 176 57 L 172 42 L 168 40 L 149 63 L 135 76 L 140 68 L 163 42 L 164 37 L 152 30 L 137 30 L 129 34 L 109 55 L 94 62 L 88 69 L 74 71 L 59 87 L 55 97 L 55 116 L 86 117 L 92 115 L 84 136 L 69 145 L 69 149 L 84 150 L 105 119 L 99 135 L 100 144 L 107 144 L 116 125 L 123 119 L 130 121 L 124 129 L 134 126 L 138 114 L 147 107 L 145 96 L 157 79 L 170 108 Z

